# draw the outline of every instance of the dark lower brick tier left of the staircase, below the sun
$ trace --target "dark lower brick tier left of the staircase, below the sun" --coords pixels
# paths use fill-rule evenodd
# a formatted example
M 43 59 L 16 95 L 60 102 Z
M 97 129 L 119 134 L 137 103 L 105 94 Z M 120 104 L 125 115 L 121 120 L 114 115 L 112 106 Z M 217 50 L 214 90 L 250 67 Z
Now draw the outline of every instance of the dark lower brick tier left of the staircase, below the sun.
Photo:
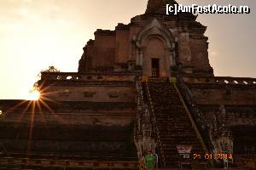
M 0 139 L 9 153 L 137 156 L 133 103 L 47 103 L 50 110 L 41 105 L 33 111 L 32 105 L 26 110 L 28 101 L 0 101 Z

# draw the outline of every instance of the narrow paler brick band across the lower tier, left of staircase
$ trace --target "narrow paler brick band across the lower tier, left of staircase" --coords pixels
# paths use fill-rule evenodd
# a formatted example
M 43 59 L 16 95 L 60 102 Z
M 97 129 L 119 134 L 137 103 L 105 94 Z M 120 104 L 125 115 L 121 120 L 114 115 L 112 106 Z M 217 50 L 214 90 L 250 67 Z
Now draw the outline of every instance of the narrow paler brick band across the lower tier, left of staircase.
M 4 111 L 3 111 L 4 113 Z M 31 122 L 32 113 L 28 112 L 22 115 L 20 112 L 4 113 L 4 121 L 10 123 Z M 42 114 L 37 111 L 33 114 L 33 122 L 49 122 L 49 123 L 64 123 L 67 125 L 101 125 L 101 126 L 127 126 L 136 119 L 136 111 L 132 109 L 123 110 L 89 110 L 73 112 L 51 113 L 44 111 Z

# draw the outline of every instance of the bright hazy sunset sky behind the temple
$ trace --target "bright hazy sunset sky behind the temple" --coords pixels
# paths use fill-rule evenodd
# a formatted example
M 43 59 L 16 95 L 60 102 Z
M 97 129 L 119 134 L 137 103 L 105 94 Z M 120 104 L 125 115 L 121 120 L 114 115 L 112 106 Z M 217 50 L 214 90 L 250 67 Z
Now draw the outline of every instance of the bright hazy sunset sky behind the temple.
M 251 14 L 201 14 L 216 76 L 256 77 L 255 0 L 177 0 L 248 5 Z M 49 65 L 77 71 L 97 28 L 114 29 L 143 14 L 147 0 L 0 0 L 0 99 L 26 99 Z

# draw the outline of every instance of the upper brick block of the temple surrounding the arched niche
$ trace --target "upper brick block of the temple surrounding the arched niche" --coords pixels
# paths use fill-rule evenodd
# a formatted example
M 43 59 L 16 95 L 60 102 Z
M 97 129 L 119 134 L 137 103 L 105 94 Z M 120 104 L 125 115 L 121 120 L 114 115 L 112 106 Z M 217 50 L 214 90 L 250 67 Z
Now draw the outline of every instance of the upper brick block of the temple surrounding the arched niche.
M 153 26 L 152 30 L 151 28 L 147 30 L 154 20 L 159 24 Z M 110 67 L 111 70 L 119 63 L 137 61 L 140 55 L 143 57 L 143 64 L 137 63 L 137 65 L 145 67 L 145 76 L 151 76 L 149 71 L 152 58 L 161 59 L 160 76 L 162 77 L 170 76 L 169 67 L 171 66 L 180 67 L 179 71 L 182 74 L 212 75 L 207 52 L 208 38 L 204 36 L 207 27 L 195 20 L 196 17 L 193 14 L 179 14 L 172 17 L 163 17 L 162 14 L 141 14 L 132 18 L 128 25 L 119 24 L 114 31 L 97 30 L 95 41 L 90 40 L 84 47 L 86 50 L 79 63 L 79 72 L 95 71 L 97 67 L 106 67 L 106 69 Z M 157 32 L 158 29 L 160 31 Z M 143 33 L 148 35 L 146 39 L 152 37 L 149 32 L 153 32 L 152 35 L 164 40 L 161 47 L 158 47 L 158 44 L 154 44 L 155 46 L 150 46 L 150 43 L 139 44 L 138 37 Z M 167 43 L 169 47 L 164 45 Z M 166 51 L 161 48 L 165 48 Z M 151 54 L 150 51 L 165 53 L 158 56 Z

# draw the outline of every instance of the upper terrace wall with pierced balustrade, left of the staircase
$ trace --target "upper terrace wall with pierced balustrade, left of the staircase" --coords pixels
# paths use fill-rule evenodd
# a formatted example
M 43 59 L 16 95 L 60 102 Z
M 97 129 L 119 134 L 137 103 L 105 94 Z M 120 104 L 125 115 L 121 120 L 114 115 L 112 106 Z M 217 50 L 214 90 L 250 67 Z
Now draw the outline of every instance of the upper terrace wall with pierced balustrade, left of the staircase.
M 136 103 L 135 78 L 131 74 L 44 72 L 38 84 L 42 99 Z

